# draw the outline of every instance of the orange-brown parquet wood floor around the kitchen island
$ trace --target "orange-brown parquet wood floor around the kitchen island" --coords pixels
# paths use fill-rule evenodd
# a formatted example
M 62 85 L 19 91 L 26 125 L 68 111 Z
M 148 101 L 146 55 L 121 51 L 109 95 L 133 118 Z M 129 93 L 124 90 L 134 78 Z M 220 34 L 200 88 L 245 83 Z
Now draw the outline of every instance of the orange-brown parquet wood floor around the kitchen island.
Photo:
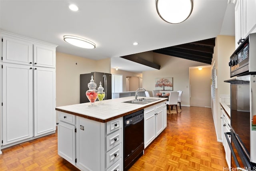
M 182 107 L 167 115 L 167 127 L 129 171 L 223 171 L 210 108 Z M 57 133 L 2 149 L 1 171 L 78 171 L 57 153 Z

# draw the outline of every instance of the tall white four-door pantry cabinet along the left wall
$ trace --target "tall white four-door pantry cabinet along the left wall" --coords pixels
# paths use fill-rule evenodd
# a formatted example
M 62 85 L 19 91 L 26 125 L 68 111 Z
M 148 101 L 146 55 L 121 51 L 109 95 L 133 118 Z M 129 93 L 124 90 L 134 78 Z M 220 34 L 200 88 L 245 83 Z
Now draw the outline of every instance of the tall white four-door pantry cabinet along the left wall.
M 56 46 L 0 31 L 2 147 L 56 130 Z

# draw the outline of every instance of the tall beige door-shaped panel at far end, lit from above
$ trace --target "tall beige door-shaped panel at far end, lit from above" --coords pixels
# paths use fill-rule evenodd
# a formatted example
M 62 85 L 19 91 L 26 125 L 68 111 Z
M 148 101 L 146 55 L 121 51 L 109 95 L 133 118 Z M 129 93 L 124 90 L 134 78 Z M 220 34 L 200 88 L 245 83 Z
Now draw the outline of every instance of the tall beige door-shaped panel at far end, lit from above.
M 211 107 L 211 67 L 190 68 L 190 106 Z

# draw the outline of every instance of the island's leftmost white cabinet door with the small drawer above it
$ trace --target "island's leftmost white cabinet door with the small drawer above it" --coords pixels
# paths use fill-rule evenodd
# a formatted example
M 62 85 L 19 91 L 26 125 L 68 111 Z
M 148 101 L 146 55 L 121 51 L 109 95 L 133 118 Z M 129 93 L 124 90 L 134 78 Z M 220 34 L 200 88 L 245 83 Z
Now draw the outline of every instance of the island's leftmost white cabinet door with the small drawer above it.
M 75 116 L 58 113 L 58 155 L 76 164 L 76 127 Z

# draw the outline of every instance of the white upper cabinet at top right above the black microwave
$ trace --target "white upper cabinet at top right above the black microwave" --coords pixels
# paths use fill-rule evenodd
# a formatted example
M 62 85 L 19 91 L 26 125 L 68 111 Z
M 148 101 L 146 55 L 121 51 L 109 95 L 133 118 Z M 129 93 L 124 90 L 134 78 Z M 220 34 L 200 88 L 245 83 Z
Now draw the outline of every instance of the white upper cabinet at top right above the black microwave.
M 256 32 L 256 0 L 236 0 L 235 2 L 236 48 L 240 39 Z

